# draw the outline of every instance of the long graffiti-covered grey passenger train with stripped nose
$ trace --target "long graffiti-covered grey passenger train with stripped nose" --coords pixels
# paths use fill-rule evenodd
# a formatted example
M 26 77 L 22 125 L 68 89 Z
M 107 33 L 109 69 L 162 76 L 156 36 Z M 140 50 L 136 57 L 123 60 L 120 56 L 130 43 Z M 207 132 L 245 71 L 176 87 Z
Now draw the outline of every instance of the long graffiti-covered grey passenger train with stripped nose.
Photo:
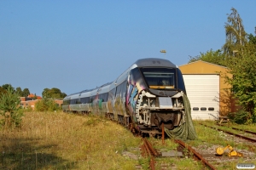
M 137 59 L 113 82 L 67 95 L 65 112 L 105 116 L 133 133 L 160 134 L 186 122 L 182 72 L 170 60 Z

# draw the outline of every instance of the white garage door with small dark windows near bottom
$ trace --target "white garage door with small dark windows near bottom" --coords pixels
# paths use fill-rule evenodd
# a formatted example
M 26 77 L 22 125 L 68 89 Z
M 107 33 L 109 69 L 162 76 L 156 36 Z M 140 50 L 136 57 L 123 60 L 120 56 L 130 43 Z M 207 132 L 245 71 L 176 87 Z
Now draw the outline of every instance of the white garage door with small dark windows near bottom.
M 192 118 L 216 119 L 219 111 L 219 75 L 183 75 L 183 79 Z

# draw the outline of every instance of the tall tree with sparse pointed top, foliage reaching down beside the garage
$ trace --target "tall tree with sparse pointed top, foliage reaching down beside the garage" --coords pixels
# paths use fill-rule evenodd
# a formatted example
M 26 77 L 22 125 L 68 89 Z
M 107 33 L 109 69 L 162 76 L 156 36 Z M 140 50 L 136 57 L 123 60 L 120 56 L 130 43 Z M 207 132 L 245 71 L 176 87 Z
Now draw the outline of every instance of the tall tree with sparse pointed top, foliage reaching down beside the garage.
M 238 99 L 247 122 L 256 122 L 256 48 L 253 35 L 247 36 L 242 20 L 235 8 L 228 17 L 230 24 L 225 25 L 226 42 L 223 46 L 225 65 L 233 77 L 225 77 L 232 88 L 231 92 Z M 249 41 L 248 41 L 249 40 Z M 248 115 L 248 116 L 245 116 Z

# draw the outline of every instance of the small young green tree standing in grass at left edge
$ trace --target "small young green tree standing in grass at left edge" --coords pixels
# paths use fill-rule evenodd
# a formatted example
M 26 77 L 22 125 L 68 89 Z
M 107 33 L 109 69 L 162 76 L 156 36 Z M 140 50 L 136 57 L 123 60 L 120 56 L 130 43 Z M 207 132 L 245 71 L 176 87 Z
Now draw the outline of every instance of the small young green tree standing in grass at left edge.
M 7 93 L 0 96 L 0 114 L 4 117 L 1 125 L 4 125 L 5 129 L 20 126 L 21 116 L 23 116 L 20 111 L 19 95 L 9 86 Z

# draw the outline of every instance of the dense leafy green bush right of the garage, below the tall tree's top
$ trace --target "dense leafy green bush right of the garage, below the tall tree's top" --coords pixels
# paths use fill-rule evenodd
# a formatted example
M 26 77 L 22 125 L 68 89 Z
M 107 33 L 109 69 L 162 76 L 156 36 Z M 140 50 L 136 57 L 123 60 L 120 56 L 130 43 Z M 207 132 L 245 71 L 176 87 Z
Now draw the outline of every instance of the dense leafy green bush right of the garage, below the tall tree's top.
M 256 122 L 256 53 L 244 51 L 239 58 L 228 63 L 229 73 L 233 77 L 225 77 L 232 86 L 232 92 L 239 105 L 249 113 L 247 120 Z

